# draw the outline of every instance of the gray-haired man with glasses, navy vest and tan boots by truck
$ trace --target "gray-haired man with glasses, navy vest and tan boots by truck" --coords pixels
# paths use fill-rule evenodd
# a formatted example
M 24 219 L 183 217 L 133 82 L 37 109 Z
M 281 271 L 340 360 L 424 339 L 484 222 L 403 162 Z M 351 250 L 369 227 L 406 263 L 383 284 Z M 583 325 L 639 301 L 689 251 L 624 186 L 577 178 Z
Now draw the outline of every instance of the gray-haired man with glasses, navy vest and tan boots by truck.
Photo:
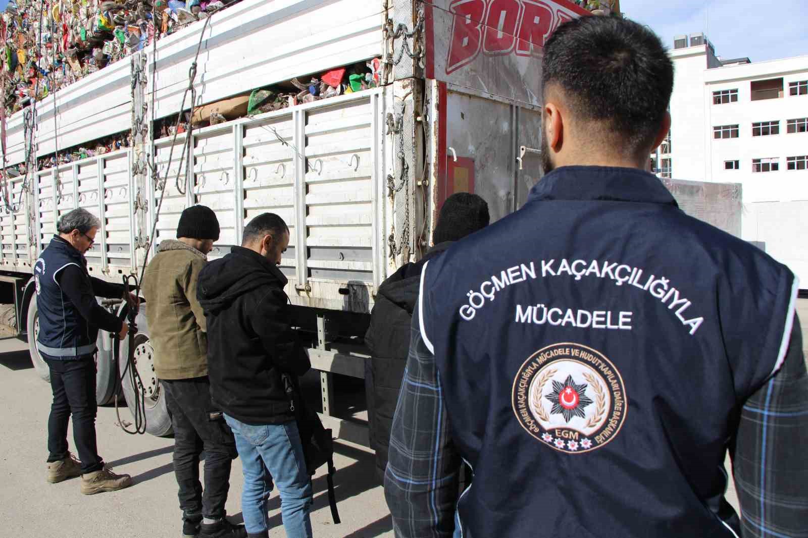
M 48 482 L 82 476 L 82 494 L 120 490 L 128 475 L 108 469 L 95 439 L 95 340 L 99 329 L 124 338 L 127 325 L 103 309 L 95 296 L 119 298 L 123 287 L 90 276 L 84 254 L 95 243 L 101 222 L 86 209 L 66 213 L 57 235 L 34 265 L 40 332 L 36 349 L 50 368 L 53 405 L 48 418 Z M 127 298 L 136 302 L 134 296 Z M 67 423 L 81 461 L 68 450 Z

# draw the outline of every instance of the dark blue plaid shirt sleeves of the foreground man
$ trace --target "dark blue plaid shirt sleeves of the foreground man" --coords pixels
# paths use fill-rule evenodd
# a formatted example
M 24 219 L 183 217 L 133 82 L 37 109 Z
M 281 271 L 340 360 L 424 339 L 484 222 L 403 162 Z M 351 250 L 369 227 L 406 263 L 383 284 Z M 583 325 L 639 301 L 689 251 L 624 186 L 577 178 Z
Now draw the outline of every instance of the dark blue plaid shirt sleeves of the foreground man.
M 393 418 L 385 498 L 396 536 L 448 538 L 461 456 L 449 436 L 440 372 L 423 343 L 418 312 Z M 746 401 L 732 441 L 743 538 L 808 537 L 808 372 L 796 315 L 782 368 Z

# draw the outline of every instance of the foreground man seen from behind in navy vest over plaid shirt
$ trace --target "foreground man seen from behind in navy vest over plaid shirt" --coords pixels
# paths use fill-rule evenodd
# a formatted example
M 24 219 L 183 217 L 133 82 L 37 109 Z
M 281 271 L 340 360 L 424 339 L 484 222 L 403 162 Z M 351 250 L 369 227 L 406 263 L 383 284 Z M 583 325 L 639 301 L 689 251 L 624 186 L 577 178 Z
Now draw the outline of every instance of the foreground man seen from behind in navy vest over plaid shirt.
M 806 536 L 797 278 L 644 171 L 671 122 L 662 43 L 576 19 L 542 82 L 544 179 L 423 267 L 385 474 L 397 536 Z

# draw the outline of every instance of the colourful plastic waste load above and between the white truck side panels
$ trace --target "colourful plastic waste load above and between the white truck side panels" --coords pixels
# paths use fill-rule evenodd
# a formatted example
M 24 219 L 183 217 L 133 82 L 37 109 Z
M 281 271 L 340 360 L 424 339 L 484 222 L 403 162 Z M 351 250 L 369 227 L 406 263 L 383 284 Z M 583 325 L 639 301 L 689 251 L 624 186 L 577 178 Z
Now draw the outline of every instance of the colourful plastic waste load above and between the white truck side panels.
M 0 105 L 6 117 L 40 101 L 65 86 L 95 73 L 129 54 L 148 47 L 188 23 L 239 0 L 11 0 L 0 13 Z M 40 27 L 40 20 L 42 21 Z M 40 29 L 41 28 L 41 29 Z M 176 130 L 187 123 L 217 124 L 243 115 L 312 103 L 381 83 L 381 59 L 374 58 L 326 73 L 301 77 L 253 91 L 235 103 L 223 99 L 196 107 Z M 238 99 L 236 99 L 238 100 Z M 176 116 L 158 120 L 154 136 L 175 130 Z M 74 162 L 128 147 L 128 124 L 121 133 L 60 148 L 57 155 L 38 159 L 39 169 Z M 24 165 L 17 166 L 22 170 Z

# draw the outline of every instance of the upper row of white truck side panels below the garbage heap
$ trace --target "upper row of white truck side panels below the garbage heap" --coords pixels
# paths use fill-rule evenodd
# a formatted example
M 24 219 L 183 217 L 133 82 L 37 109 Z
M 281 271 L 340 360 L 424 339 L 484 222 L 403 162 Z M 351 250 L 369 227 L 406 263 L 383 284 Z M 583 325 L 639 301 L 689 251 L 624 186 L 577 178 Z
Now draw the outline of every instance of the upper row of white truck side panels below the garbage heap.
M 147 102 L 154 103 L 155 118 L 179 111 L 203 32 L 197 105 L 379 57 L 384 23 L 381 0 L 244 0 L 214 14 L 207 26 L 191 24 L 158 41 L 156 53 L 146 48 Z M 37 103 L 36 155 L 128 131 L 131 80 L 130 61 L 118 61 Z M 188 99 L 186 107 L 190 104 Z M 8 120 L 6 166 L 24 161 L 23 115 L 19 111 Z

